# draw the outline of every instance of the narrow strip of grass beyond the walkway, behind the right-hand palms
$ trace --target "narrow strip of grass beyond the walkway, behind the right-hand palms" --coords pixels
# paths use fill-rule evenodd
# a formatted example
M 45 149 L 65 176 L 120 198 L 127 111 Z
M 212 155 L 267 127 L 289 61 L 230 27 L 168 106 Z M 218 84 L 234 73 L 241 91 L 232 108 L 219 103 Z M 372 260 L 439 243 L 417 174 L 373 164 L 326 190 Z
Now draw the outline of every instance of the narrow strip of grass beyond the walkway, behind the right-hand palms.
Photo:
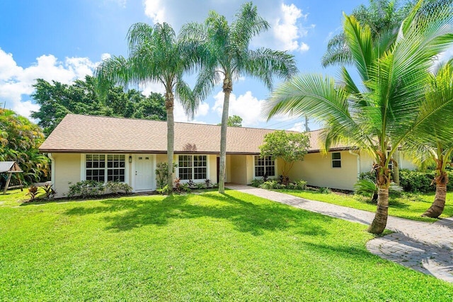
M 365 211 L 376 211 L 376 204 L 369 203 L 370 197 L 361 197 L 352 194 L 320 193 L 316 191 L 299 191 L 299 190 L 276 190 L 287 194 L 292 194 L 297 197 L 302 197 L 320 202 L 328 202 L 329 204 L 338 204 L 340 206 L 361 209 Z M 422 217 L 423 214 L 434 201 L 434 193 L 408 194 L 404 193 L 401 197 L 389 198 L 389 215 L 418 220 L 418 221 L 437 221 L 428 217 Z M 447 202 L 442 217 L 453 216 L 453 192 L 447 193 Z

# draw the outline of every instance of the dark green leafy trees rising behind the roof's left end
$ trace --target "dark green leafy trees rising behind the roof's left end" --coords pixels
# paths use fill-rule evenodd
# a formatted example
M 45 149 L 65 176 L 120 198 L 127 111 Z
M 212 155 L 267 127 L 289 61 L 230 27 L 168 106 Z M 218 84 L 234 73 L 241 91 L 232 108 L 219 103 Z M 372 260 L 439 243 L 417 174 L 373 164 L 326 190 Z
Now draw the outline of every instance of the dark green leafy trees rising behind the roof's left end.
M 161 94 L 144 96 L 134 89 L 125 92 L 120 86 L 110 85 L 105 95 L 101 96 L 92 76 L 77 80 L 72 85 L 38 79 L 33 87 L 35 92 L 32 97 L 41 107 L 31 117 L 39 120 L 38 124 L 46 136 L 68 113 L 166 120 Z

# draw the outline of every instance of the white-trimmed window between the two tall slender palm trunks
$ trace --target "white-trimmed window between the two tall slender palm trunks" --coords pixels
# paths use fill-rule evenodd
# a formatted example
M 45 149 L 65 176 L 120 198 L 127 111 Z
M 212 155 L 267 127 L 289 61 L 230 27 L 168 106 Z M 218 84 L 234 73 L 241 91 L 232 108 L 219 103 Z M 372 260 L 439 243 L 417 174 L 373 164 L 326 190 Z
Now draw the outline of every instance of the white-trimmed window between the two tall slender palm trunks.
M 178 176 L 180 180 L 207 179 L 207 156 L 180 155 L 178 158 Z

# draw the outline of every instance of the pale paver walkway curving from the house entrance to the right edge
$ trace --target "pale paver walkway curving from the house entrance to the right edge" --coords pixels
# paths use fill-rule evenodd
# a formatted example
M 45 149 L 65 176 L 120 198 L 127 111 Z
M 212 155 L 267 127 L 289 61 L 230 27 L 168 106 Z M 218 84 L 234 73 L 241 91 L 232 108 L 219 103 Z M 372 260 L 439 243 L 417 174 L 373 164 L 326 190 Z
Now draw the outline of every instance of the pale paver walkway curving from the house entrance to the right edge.
M 374 213 L 369 211 L 317 202 L 247 185 L 227 184 L 226 187 L 348 221 L 369 224 L 374 218 Z M 367 249 L 370 252 L 453 283 L 453 219 L 427 223 L 389 216 L 386 228 L 396 233 L 369 240 Z

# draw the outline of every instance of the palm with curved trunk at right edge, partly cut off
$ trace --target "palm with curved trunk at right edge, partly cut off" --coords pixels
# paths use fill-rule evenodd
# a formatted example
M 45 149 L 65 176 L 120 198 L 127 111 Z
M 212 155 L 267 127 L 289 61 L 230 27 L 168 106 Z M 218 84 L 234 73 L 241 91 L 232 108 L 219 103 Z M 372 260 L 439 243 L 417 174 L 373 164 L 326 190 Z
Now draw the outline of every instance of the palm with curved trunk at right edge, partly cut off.
M 428 89 L 425 97 L 431 102 L 448 104 L 453 99 L 453 59 L 446 64 L 442 64 L 435 74 L 430 74 Z M 435 162 L 435 178 L 432 183 L 436 185 L 436 194 L 431 207 L 422 216 L 437 218 L 445 208 L 445 198 L 447 195 L 448 174 L 446 167 L 451 163 L 453 153 L 453 125 L 445 117 L 453 116 L 453 112 L 448 112 L 445 107 L 444 118 L 447 123 L 442 124 L 442 120 L 433 121 L 420 127 L 411 139 L 406 143 L 405 149 L 413 151 L 415 156 L 420 156 L 423 160 Z M 420 133 L 421 132 L 421 133 Z M 442 135 L 447 132 L 447 135 Z M 449 134 L 449 135 L 448 135 Z M 420 137 L 425 139 L 422 141 Z M 427 139 L 428 138 L 428 139 Z

